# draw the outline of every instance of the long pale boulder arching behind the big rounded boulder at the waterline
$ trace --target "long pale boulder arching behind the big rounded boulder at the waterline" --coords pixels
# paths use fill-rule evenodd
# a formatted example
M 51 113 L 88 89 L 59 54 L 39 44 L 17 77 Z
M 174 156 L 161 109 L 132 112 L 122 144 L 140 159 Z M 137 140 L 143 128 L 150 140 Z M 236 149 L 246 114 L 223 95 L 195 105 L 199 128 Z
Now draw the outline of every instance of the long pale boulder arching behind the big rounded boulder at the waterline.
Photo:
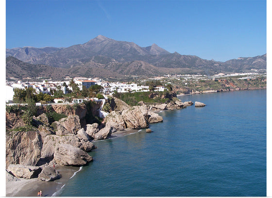
M 88 141 L 88 139 L 77 137 L 76 135 L 49 135 L 44 140 L 44 144 L 41 150 L 41 158 L 53 157 L 55 149 L 59 144 L 70 144 L 86 152 L 96 148 L 96 146 Z

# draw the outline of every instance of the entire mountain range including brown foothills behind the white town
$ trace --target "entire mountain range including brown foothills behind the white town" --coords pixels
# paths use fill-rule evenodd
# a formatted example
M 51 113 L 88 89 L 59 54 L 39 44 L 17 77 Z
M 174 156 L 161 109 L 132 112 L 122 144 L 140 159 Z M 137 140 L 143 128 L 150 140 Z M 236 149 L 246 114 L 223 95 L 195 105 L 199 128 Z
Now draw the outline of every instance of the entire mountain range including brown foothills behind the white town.
M 101 35 L 84 44 L 67 48 L 6 49 L 6 57 L 7 78 L 27 76 L 27 73 L 31 73 L 32 77 L 45 75 L 52 78 L 65 75 L 119 77 L 174 73 L 212 75 L 218 72 L 266 69 L 266 54 L 220 62 L 205 60 L 195 55 L 169 53 L 156 44 L 140 47 L 133 42 L 117 41 Z

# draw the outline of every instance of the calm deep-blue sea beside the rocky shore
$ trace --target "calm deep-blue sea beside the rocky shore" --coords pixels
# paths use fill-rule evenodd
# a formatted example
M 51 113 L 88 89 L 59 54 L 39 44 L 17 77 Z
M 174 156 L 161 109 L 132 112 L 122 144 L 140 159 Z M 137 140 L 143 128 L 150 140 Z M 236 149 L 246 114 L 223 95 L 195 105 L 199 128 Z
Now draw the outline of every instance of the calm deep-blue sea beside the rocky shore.
M 266 90 L 182 96 L 153 133 L 95 142 L 59 196 L 266 196 Z

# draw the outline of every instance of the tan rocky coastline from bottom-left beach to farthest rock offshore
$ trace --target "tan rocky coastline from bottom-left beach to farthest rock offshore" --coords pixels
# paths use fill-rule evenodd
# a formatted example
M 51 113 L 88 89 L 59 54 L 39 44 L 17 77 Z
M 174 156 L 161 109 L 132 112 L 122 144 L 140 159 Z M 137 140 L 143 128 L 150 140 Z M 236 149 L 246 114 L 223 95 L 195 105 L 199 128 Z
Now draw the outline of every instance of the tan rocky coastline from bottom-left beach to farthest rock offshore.
M 114 98 L 114 110 L 101 125 L 83 124 L 86 115 L 84 105 L 70 111 L 60 105 L 52 105 L 53 110 L 65 113 L 67 117 L 50 124 L 46 114 L 40 110 L 40 115 L 32 120 L 35 127 L 28 131 L 13 131 L 13 128 L 23 126 L 23 122 L 16 113 L 6 112 L 6 195 L 13 195 L 14 185 L 60 180 L 65 168 L 59 172 L 57 167 L 80 167 L 92 162 L 88 152 L 97 148 L 95 141 L 138 129 L 145 128 L 149 132 L 149 124 L 163 122 L 158 111 L 191 105 L 191 101 L 182 102 L 176 98 L 167 104 L 146 105 L 140 102 L 139 106 L 130 107 Z M 95 108 L 99 108 L 99 104 Z M 24 188 L 21 190 L 24 191 Z

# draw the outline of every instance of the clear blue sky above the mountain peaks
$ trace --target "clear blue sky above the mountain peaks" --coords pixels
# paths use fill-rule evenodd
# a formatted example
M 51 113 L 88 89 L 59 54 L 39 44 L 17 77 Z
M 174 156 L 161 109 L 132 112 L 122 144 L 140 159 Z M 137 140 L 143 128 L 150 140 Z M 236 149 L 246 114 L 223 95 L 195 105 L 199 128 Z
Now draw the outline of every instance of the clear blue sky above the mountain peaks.
M 266 53 L 266 0 L 6 0 L 6 48 L 103 35 L 226 61 Z

